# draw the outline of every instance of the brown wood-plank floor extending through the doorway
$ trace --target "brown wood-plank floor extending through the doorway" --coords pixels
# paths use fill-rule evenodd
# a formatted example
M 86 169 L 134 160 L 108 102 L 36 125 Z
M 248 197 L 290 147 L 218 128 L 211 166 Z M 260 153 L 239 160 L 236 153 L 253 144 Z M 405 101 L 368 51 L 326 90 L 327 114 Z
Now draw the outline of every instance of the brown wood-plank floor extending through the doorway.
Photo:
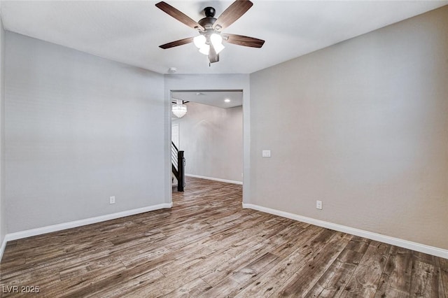
M 448 260 L 241 208 L 188 178 L 171 209 L 10 241 L 1 297 L 447 297 Z

